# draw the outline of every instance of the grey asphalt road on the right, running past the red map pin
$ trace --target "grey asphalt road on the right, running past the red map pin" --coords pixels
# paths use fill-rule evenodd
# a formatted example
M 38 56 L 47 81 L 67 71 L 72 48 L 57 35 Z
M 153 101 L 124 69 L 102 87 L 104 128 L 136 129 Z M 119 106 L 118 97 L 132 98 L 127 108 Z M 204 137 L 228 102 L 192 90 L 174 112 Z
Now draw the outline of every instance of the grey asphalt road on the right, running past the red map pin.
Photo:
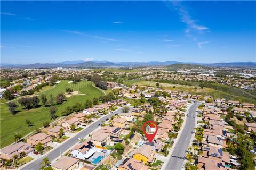
M 194 103 L 188 109 L 188 116 L 186 120 L 186 124 L 180 135 L 179 141 L 175 146 L 170 159 L 166 165 L 165 170 L 180 170 L 182 169 L 183 162 L 185 161 L 185 155 L 188 150 L 188 146 L 192 137 L 192 133 L 195 128 L 195 116 L 196 109 L 200 104 Z

